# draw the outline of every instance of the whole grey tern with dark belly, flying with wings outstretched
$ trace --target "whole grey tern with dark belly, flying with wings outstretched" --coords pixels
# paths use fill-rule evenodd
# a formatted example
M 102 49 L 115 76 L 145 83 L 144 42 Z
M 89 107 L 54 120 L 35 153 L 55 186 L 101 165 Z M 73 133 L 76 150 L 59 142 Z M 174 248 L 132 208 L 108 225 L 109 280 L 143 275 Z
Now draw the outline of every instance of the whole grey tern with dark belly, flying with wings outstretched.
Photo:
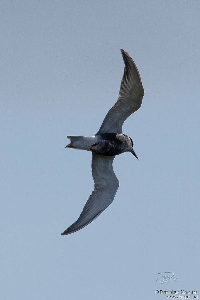
M 94 190 L 78 220 L 61 235 L 76 232 L 87 226 L 112 203 L 119 187 L 119 181 L 112 167 L 116 155 L 131 152 L 138 159 L 133 150 L 133 140 L 122 133 L 122 125 L 132 113 L 141 107 L 144 88 L 133 59 L 123 49 L 121 49 L 121 54 L 125 67 L 118 100 L 107 113 L 99 131 L 92 137 L 67 136 L 70 144 L 65 148 L 92 152 Z

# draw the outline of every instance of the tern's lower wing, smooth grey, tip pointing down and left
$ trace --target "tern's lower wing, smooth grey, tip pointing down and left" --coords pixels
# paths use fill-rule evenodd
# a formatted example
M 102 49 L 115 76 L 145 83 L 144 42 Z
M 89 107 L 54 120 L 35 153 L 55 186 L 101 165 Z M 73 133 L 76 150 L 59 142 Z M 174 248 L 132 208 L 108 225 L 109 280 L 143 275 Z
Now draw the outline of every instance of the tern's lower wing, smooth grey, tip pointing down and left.
M 119 187 L 119 181 L 112 168 L 114 158 L 115 156 L 92 154 L 94 190 L 88 198 L 78 220 L 61 233 L 61 235 L 70 234 L 82 229 L 112 203 Z

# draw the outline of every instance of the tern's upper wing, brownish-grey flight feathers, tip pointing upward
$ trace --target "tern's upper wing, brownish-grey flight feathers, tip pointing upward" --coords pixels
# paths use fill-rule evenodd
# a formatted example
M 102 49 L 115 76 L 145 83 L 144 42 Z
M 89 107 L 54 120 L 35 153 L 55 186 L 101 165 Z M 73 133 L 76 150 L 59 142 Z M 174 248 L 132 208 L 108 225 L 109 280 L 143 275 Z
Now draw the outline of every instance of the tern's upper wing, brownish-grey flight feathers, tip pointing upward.
M 97 134 L 121 133 L 124 121 L 138 110 L 142 104 L 144 88 L 133 59 L 121 49 L 124 59 L 124 75 L 119 90 L 119 98 L 109 110 Z

